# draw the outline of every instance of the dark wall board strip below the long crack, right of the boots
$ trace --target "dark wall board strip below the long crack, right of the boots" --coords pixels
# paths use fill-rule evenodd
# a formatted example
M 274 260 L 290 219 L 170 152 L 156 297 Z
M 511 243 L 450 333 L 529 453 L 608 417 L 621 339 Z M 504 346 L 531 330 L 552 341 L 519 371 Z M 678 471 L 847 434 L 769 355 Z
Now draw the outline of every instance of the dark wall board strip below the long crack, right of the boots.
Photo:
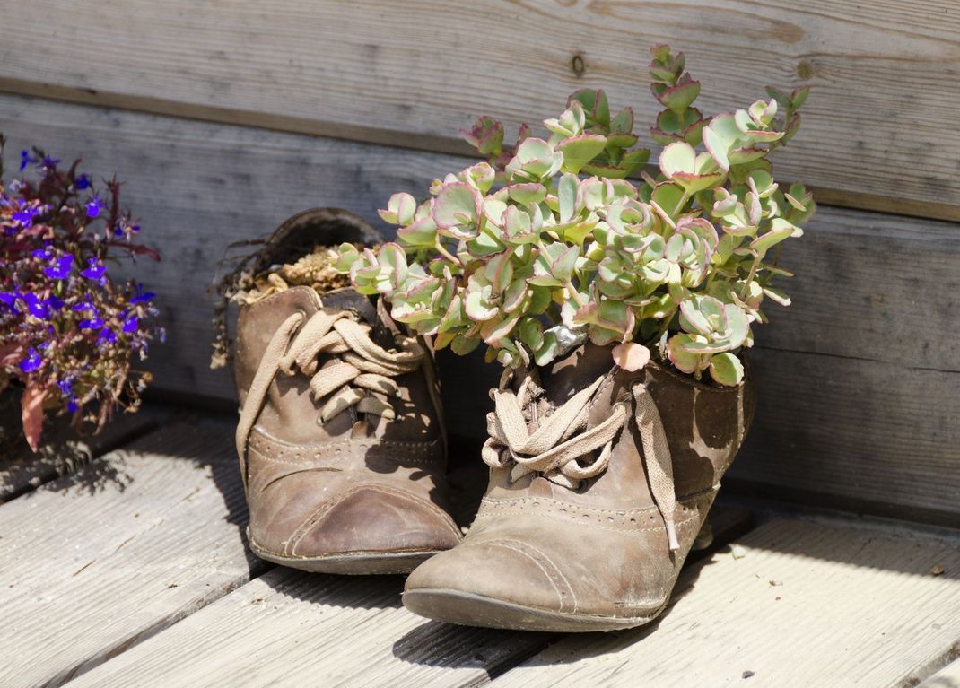
M 960 372 L 773 350 L 752 360 L 756 420 L 728 482 L 960 523 Z

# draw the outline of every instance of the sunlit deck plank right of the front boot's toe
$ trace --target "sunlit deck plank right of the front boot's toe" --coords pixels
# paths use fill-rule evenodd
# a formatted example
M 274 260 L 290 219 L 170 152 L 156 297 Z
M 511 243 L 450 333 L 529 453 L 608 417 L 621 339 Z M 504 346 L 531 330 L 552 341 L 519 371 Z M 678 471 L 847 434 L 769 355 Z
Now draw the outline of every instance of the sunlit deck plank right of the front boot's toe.
M 960 639 L 956 538 L 783 520 L 739 544 L 660 623 L 568 636 L 493 685 L 894 686 Z

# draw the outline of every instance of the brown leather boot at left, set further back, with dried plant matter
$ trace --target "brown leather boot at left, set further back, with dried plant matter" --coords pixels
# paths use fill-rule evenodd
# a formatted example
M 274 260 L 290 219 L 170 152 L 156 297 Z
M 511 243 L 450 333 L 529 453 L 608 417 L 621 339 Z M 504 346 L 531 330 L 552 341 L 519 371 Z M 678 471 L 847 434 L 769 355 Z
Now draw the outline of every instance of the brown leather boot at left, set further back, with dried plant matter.
M 248 268 L 381 241 L 343 210 L 300 213 Z M 237 452 L 254 554 L 306 571 L 406 573 L 453 547 L 432 352 L 349 288 L 240 308 Z

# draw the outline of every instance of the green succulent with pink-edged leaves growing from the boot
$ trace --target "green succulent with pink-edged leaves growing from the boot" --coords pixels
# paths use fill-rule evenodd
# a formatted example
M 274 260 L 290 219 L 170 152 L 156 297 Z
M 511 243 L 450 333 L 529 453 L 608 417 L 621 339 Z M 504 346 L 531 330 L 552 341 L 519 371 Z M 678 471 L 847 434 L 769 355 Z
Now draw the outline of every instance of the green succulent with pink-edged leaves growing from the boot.
M 652 54 L 656 176 L 634 148 L 633 110 L 612 115 L 603 91 L 574 93 L 543 122 L 548 137 L 524 126 L 513 146 L 482 117 L 463 133 L 488 161 L 436 179 L 425 202 L 396 194 L 380 211 L 396 243 L 345 245 L 340 269 L 457 353 L 483 342 L 489 360 L 544 365 L 589 339 L 616 344 L 624 367 L 650 346 L 698 379 L 738 384 L 764 300 L 789 303 L 771 285 L 789 274 L 780 242 L 815 209 L 803 185 L 780 188 L 767 159 L 798 130 L 807 90 L 769 89 L 769 101 L 707 118 L 683 54 Z

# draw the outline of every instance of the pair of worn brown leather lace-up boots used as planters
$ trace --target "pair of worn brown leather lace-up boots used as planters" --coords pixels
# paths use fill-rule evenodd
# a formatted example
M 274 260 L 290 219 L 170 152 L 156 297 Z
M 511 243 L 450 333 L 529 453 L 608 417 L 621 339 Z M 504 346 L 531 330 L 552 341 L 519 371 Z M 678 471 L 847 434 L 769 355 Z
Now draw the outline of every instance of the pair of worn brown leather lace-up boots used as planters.
M 318 245 L 381 241 L 346 211 L 291 218 L 252 273 Z M 403 603 L 441 621 L 612 630 L 654 619 L 753 414 L 749 388 L 581 346 L 504 374 L 466 536 L 450 515 L 430 344 L 349 287 L 241 306 L 236 432 L 253 552 L 325 573 L 413 572 Z

